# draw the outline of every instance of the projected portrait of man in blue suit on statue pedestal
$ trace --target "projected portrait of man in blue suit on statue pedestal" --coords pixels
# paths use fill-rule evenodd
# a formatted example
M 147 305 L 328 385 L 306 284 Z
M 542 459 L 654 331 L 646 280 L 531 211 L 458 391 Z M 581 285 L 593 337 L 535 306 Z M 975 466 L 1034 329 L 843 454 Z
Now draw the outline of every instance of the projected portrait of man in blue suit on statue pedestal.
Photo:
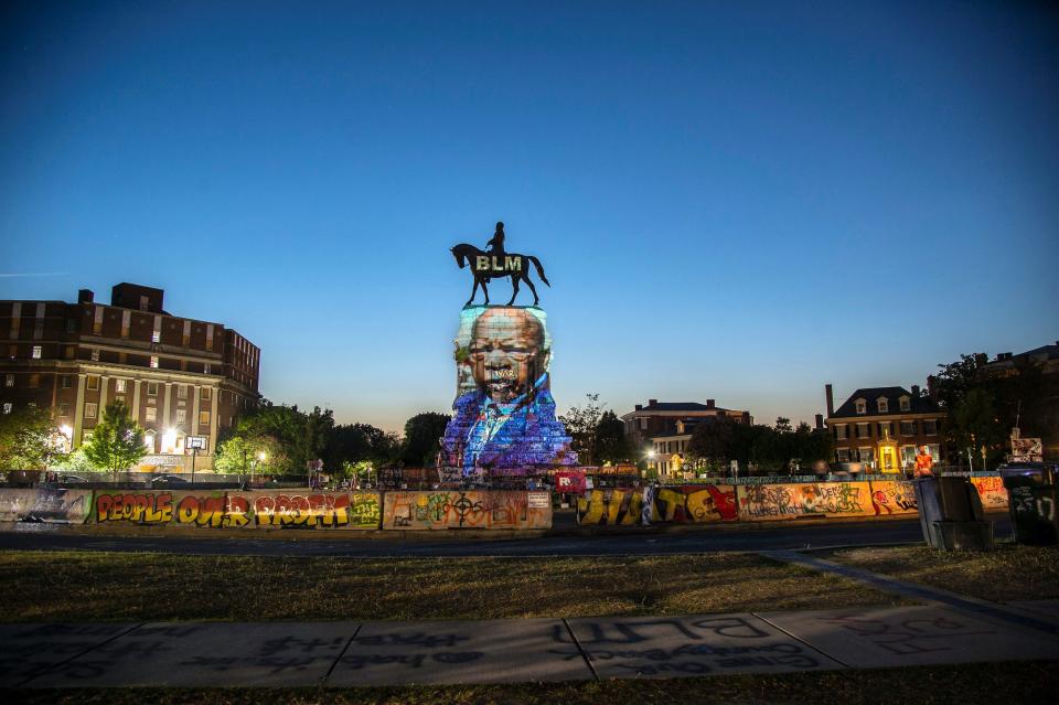
M 468 474 L 574 463 L 570 439 L 555 418 L 548 362 L 545 325 L 533 310 L 482 310 L 462 356 L 474 388 L 453 404 L 443 439 L 447 462 Z

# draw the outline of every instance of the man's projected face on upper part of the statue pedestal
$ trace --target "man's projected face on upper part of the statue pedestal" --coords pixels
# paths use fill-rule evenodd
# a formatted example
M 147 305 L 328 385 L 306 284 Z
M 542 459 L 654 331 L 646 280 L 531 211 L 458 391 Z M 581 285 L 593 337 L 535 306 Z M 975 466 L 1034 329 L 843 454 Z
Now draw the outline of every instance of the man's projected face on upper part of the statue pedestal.
M 474 321 L 468 350 L 474 384 L 498 404 L 530 391 L 547 368 L 544 327 L 521 309 L 488 309 Z

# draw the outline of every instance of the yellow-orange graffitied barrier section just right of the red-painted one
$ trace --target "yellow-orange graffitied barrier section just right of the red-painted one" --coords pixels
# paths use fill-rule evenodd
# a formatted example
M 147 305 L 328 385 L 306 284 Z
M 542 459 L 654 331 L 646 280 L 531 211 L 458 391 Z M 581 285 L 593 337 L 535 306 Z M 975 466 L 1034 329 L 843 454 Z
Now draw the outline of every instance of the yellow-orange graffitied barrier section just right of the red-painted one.
M 739 519 L 777 521 L 802 516 L 871 516 L 868 482 L 740 485 Z

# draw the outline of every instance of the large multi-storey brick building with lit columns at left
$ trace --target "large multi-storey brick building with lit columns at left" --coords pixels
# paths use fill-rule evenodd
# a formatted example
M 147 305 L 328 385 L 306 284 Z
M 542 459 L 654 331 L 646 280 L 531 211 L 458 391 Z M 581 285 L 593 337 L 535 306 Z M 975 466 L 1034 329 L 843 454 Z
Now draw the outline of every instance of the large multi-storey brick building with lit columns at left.
M 87 289 L 76 303 L 0 301 L 0 412 L 50 407 L 77 448 L 121 400 L 147 429 L 140 469 L 190 468 L 189 436 L 206 438 L 196 468 L 212 468 L 218 434 L 260 398 L 261 351 L 221 323 L 165 312 L 163 296 L 119 284 L 109 306 Z

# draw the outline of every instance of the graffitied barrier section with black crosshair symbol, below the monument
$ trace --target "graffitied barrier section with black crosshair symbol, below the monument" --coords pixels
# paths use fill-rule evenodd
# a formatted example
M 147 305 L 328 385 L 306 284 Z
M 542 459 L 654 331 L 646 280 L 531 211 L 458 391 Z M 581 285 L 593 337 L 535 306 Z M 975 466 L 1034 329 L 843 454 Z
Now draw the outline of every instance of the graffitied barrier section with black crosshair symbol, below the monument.
M 384 530 L 550 527 L 548 492 L 386 492 L 383 504 Z

